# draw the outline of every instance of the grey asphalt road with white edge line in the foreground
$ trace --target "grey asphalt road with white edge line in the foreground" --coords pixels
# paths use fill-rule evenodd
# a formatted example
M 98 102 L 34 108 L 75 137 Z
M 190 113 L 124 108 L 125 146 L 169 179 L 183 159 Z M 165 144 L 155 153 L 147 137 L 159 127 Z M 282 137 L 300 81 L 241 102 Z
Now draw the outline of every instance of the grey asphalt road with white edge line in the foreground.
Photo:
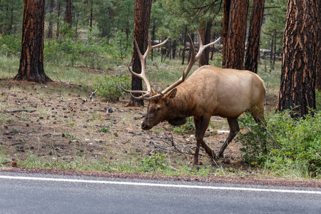
M 321 213 L 320 188 L 0 172 L 0 213 Z

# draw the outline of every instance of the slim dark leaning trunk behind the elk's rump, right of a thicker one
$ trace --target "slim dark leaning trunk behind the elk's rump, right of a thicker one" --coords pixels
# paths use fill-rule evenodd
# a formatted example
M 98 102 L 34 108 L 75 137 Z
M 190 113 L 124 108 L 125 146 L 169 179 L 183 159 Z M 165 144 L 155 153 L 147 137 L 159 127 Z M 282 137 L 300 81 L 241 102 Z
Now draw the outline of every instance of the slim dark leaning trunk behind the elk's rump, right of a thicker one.
M 260 34 L 263 21 L 265 0 L 253 0 L 253 9 L 248 33 L 248 46 L 245 56 L 245 70 L 258 73 L 258 59 L 260 57 Z

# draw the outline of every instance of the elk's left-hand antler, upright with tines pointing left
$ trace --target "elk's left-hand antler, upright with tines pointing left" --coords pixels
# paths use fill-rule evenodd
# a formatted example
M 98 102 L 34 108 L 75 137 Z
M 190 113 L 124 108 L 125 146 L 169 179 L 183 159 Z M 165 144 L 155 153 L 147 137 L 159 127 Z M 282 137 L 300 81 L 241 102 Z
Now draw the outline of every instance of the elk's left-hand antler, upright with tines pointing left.
M 161 44 L 156 44 L 155 46 L 152 46 L 151 45 L 151 34 L 149 33 L 148 31 L 148 47 L 147 47 L 147 50 L 145 52 L 144 55 L 141 54 L 141 51 L 139 50 L 139 47 L 138 47 L 138 44 L 137 44 L 137 41 L 136 39 L 134 39 L 134 42 L 135 42 L 135 46 L 136 46 L 136 50 L 138 52 L 138 56 L 141 60 L 141 73 L 135 73 L 133 72 L 133 70 L 131 70 L 131 68 L 128 66 L 128 69 L 129 71 L 131 71 L 131 73 L 133 74 L 133 76 L 136 76 L 138 78 L 141 78 L 145 83 L 146 83 L 146 87 L 147 87 L 147 91 L 131 91 L 131 90 L 126 90 L 125 88 L 123 88 L 121 85 L 121 89 L 127 93 L 131 93 L 131 96 L 133 98 L 136 98 L 136 99 L 143 99 L 143 98 L 148 98 L 150 97 L 152 94 L 153 94 L 153 88 L 151 87 L 151 84 L 149 83 L 148 81 L 148 78 L 146 77 L 146 73 L 145 73 L 145 68 L 146 68 L 146 58 L 149 54 L 149 52 L 153 49 L 156 49 L 158 48 L 159 46 L 163 46 L 163 44 L 165 44 L 166 42 L 168 41 L 168 39 L 165 39 L 165 41 L 163 41 Z M 133 96 L 133 93 L 142 93 L 143 95 L 142 96 Z

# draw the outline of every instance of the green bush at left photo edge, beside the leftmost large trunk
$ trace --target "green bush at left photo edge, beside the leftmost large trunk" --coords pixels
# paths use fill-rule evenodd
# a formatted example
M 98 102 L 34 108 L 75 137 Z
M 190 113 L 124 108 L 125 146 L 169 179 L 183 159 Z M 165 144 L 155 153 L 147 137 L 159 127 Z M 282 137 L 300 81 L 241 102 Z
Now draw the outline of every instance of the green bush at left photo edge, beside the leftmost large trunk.
M 21 53 L 21 34 L 0 37 L 0 53 L 7 56 L 17 56 Z

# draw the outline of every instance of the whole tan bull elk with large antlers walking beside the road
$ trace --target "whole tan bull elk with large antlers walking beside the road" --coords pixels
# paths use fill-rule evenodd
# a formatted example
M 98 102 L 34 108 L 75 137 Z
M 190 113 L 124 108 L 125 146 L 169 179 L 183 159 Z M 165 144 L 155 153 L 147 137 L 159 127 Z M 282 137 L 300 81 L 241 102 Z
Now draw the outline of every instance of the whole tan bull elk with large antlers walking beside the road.
M 188 35 L 189 39 L 190 36 Z M 151 36 L 148 34 L 148 48 L 144 55 L 135 46 L 138 56 L 141 60 L 141 73 L 134 73 L 128 66 L 133 76 L 143 79 L 146 83 L 146 91 L 130 91 L 121 87 L 123 91 L 131 93 L 140 93 L 141 96 L 133 96 L 137 99 L 149 101 L 148 111 L 143 120 L 141 128 L 149 130 L 162 121 L 168 121 L 171 125 L 180 126 L 186 123 L 186 118 L 194 117 L 196 149 L 193 158 L 193 164 L 198 163 L 198 153 L 200 146 L 203 146 L 205 152 L 210 158 L 222 158 L 225 148 L 228 146 L 236 133 L 240 131 L 238 121 L 236 120 L 243 112 L 249 110 L 255 121 L 261 123 L 264 113 L 265 85 L 263 80 L 251 71 L 240 71 L 229 68 L 217 68 L 215 66 L 201 66 L 190 77 L 190 72 L 195 61 L 200 58 L 203 51 L 212 46 L 217 41 L 203 46 L 200 34 L 198 34 L 199 50 L 195 54 L 195 48 L 192 39 L 190 39 L 190 49 L 192 55 L 187 68 L 183 71 L 183 76 L 157 93 L 153 90 L 146 77 L 146 57 L 152 49 L 156 49 L 167 42 L 167 39 L 161 44 L 151 46 Z M 186 79 L 185 79 L 186 78 Z M 220 116 L 227 118 L 230 126 L 228 138 L 218 151 L 218 156 L 210 149 L 203 137 L 211 116 Z

